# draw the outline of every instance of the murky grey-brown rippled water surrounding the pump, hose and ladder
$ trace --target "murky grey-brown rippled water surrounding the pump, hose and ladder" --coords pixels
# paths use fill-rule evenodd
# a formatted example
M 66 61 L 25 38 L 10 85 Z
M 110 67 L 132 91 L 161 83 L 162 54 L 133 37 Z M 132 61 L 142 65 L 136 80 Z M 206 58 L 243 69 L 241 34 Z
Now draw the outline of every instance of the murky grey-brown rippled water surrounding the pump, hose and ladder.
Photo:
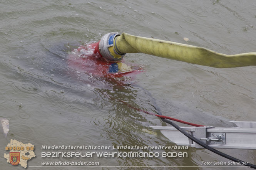
M 166 116 L 197 124 L 230 127 L 229 120 L 256 121 L 256 67 L 217 69 L 129 54 L 125 60 L 141 65 L 144 72 L 133 83 L 120 86 L 67 64 L 72 49 L 113 31 L 226 54 L 255 52 L 254 0 L 2 0 L 0 18 L 0 117 L 10 121 L 7 139 L 0 138 L 3 169 L 17 168 L 3 158 L 10 139 L 35 145 L 37 157 L 28 166 L 50 160 L 40 157 L 41 145 L 174 145 L 158 131 L 153 135 L 143 130 L 153 131 L 150 125 L 165 123 L 119 99 L 151 112 L 160 108 Z M 255 151 L 222 151 L 256 163 Z M 94 160 L 103 166 L 227 161 L 207 150 L 188 152 L 189 158 Z

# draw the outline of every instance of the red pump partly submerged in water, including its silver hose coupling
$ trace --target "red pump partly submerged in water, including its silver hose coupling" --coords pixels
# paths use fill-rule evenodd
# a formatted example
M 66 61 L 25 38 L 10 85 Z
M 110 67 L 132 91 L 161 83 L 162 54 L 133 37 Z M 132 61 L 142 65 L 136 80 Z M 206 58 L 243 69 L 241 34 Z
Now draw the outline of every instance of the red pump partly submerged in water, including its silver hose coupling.
M 80 46 L 77 51 L 84 56 L 79 60 L 79 58 L 72 58 L 70 55 L 70 60 L 79 64 L 82 63 L 83 67 L 87 66 L 86 69 L 90 70 L 90 73 L 108 78 L 121 78 L 124 75 L 140 73 L 142 69 L 136 64 L 127 65 L 121 62 L 124 54 L 118 53 L 114 47 L 114 40 L 120 35 L 116 32 L 107 33 L 97 43 Z M 90 50 L 90 54 L 83 54 L 80 52 L 81 50 Z

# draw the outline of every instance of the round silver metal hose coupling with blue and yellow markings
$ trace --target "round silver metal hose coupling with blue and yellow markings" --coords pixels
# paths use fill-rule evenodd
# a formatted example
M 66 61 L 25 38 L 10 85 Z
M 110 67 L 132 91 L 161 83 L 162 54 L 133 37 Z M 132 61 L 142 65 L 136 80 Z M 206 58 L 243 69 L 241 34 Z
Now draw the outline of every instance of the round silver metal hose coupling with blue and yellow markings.
M 120 61 L 124 57 L 125 54 L 119 53 L 116 48 L 115 38 L 120 36 L 119 33 L 107 33 L 100 39 L 99 43 L 99 51 L 100 54 L 107 60 L 110 61 Z

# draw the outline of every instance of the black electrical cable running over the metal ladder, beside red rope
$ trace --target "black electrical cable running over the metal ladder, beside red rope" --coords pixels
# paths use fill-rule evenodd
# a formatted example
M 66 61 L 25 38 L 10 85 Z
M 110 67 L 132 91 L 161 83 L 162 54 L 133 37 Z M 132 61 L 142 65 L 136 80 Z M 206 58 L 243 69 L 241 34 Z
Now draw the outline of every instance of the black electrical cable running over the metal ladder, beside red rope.
M 172 125 L 173 127 L 175 127 L 177 130 L 179 130 L 182 134 L 184 134 L 186 137 L 188 137 L 189 139 L 193 140 L 194 142 L 196 142 L 197 144 L 201 145 L 202 147 L 204 147 L 205 149 L 208 149 L 224 158 L 227 158 L 229 160 L 232 160 L 234 162 L 237 162 L 237 163 L 241 163 L 241 165 L 244 165 L 244 166 L 248 166 L 248 167 L 251 167 L 251 168 L 254 168 L 256 169 L 256 165 L 253 165 L 251 163 L 248 163 L 248 162 L 244 162 L 243 160 L 239 160 L 237 158 L 234 158 L 234 157 L 231 157 L 230 155 L 227 155 L 226 153 L 223 153 L 223 152 L 220 152 L 219 150 L 216 150 L 216 149 L 213 149 L 212 147 L 209 147 L 208 145 L 202 143 L 199 139 L 196 139 L 195 137 L 193 137 L 192 135 L 188 134 L 186 131 L 184 131 L 183 129 L 181 129 L 181 127 L 179 127 L 178 125 L 176 125 L 174 122 L 172 122 L 171 120 L 168 120 L 168 119 L 162 119 L 163 122 L 166 122 L 170 125 Z

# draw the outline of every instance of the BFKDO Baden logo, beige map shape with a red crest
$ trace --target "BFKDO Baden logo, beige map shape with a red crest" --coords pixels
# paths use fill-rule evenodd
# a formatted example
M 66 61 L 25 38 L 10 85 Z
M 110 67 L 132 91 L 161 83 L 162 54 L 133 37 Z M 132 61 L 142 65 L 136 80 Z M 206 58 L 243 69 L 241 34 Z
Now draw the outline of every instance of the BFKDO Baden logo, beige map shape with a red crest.
M 3 157 L 7 159 L 8 163 L 12 165 L 19 165 L 27 168 L 28 160 L 35 157 L 35 153 L 33 150 L 35 149 L 34 145 L 28 143 L 23 144 L 22 142 L 18 142 L 17 140 L 12 140 L 10 143 L 5 147 L 5 150 L 9 150 L 9 154 L 4 154 Z

